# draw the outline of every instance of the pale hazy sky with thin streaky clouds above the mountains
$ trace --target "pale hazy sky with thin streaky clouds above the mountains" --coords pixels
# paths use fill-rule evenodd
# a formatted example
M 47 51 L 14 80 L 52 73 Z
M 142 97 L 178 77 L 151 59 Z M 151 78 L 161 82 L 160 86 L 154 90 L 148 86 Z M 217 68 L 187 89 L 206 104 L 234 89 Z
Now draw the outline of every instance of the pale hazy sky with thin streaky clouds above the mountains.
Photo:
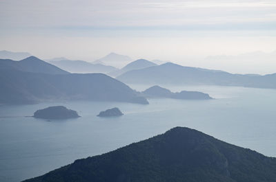
M 274 52 L 276 1 L 0 0 L 0 26 L 0 49 L 39 58 L 92 61 L 116 52 L 234 73 L 276 72 L 276 58 L 254 65 L 206 59 Z

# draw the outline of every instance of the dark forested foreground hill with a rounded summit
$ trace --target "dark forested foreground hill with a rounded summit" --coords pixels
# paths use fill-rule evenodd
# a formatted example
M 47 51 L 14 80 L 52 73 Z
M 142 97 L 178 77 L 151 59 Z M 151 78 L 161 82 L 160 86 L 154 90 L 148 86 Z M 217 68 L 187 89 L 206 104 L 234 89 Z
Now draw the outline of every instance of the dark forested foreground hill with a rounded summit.
M 177 127 L 27 181 L 274 182 L 276 158 Z

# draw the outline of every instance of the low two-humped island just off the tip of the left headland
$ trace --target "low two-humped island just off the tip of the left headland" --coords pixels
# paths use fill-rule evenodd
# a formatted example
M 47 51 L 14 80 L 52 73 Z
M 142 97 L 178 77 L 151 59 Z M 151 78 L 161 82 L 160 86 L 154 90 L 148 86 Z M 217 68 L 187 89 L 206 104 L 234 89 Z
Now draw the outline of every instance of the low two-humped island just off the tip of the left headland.
M 172 92 L 168 89 L 155 85 L 142 92 L 146 98 L 173 98 L 181 100 L 210 100 L 213 99 L 207 93 L 199 91 Z

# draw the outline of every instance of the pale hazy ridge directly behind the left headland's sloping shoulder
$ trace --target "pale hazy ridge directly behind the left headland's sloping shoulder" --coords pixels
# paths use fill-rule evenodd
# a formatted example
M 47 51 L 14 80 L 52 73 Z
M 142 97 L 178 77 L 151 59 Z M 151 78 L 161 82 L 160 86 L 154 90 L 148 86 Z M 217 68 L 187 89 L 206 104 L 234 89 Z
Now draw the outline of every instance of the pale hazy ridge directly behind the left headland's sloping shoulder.
M 52 60 L 49 61 L 52 65 L 60 67 L 70 73 L 109 73 L 118 70 L 115 67 L 92 64 L 83 60 Z

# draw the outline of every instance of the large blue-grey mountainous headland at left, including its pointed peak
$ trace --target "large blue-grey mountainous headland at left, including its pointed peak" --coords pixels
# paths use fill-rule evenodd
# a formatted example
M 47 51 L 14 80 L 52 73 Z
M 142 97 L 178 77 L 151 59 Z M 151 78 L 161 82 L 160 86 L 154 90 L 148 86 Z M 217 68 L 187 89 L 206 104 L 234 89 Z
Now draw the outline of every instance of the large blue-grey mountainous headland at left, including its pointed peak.
M 103 73 L 68 73 L 33 56 L 19 62 L 0 60 L 0 64 L 1 104 L 30 104 L 49 100 L 148 104 L 146 98 L 137 96 L 126 84 Z

